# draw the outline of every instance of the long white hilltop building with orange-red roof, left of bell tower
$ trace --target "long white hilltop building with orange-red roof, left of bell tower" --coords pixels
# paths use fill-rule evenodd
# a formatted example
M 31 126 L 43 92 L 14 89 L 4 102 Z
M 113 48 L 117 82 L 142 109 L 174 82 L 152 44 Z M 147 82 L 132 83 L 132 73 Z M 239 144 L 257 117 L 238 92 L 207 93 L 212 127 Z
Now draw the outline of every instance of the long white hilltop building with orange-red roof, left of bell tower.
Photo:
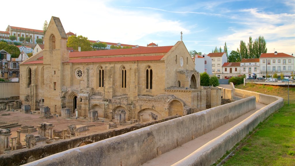
M 33 43 L 36 43 L 36 39 L 43 39 L 44 31 L 43 30 L 35 30 L 30 28 L 22 28 L 22 27 L 14 27 L 8 25 L 6 28 L 6 32 L 9 32 L 9 35 L 14 35 L 17 37 L 15 41 L 19 41 L 19 37 L 30 37 Z M 10 41 L 10 40 L 9 40 Z

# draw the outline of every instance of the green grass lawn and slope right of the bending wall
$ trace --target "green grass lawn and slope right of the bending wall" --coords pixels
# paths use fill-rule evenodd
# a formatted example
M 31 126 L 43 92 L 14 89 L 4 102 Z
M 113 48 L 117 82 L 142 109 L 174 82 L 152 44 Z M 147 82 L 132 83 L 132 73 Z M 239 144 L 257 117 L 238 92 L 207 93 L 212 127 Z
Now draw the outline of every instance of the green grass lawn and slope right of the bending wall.
M 236 88 L 283 97 L 284 106 L 240 141 L 237 151 L 222 165 L 295 166 L 295 87 L 289 86 L 289 106 L 287 87 L 246 84 Z

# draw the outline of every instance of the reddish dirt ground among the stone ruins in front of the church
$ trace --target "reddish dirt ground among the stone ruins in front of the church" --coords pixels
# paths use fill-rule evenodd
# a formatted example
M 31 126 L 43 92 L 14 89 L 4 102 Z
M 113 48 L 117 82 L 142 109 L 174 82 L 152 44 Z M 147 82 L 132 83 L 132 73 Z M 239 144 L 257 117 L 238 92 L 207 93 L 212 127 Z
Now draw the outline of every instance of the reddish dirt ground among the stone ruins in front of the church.
M 53 117 L 50 119 L 42 119 L 40 118 L 40 115 L 37 114 L 30 114 L 30 113 L 21 113 L 19 111 L 1 111 L 2 113 L 10 113 L 10 115 L 7 116 L 0 116 L 1 122 L 18 122 L 22 126 L 25 125 L 31 125 L 31 126 L 38 126 L 41 123 L 47 122 L 47 123 L 53 123 L 54 130 L 55 131 L 61 131 L 63 129 L 68 129 L 68 125 L 75 124 L 75 125 L 95 125 L 93 127 L 89 127 L 89 131 L 87 134 L 91 134 L 93 132 L 98 131 L 104 131 L 106 130 L 106 122 L 91 122 L 88 119 L 76 119 L 76 118 L 61 118 L 61 117 Z M 118 128 L 124 127 L 123 125 L 117 125 Z M 11 136 L 15 137 L 17 136 L 17 130 L 20 130 L 20 127 L 10 128 L 11 130 Z M 25 145 L 25 136 L 28 133 L 21 133 L 21 143 Z M 31 134 L 38 134 L 38 129 L 35 132 L 32 132 Z M 11 140 L 10 140 L 11 141 Z

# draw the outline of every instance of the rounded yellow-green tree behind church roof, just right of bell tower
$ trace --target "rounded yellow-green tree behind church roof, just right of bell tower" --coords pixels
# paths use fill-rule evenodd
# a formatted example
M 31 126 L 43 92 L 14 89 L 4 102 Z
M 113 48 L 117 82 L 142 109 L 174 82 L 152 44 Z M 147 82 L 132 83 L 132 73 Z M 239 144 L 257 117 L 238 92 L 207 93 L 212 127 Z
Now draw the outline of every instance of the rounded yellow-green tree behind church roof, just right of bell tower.
M 68 38 L 67 47 L 72 47 L 74 50 L 78 50 L 78 47 L 81 47 L 81 51 L 92 51 L 92 43 L 88 40 L 87 37 L 79 36 L 70 36 Z

